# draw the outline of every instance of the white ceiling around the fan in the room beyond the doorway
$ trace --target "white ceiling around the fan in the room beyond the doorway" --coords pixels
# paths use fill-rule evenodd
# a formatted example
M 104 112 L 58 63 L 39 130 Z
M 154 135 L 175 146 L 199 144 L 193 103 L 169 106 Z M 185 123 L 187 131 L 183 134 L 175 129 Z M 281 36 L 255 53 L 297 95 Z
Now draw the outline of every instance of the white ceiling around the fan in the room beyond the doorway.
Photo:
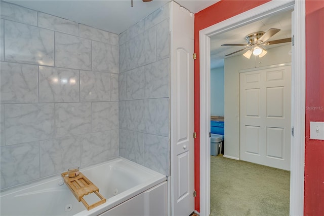
M 245 48 L 243 46 L 221 46 L 222 44 L 246 44 L 245 37 L 248 34 L 256 31 L 266 32 L 270 28 L 279 28 L 281 30 L 273 35 L 268 41 L 291 38 L 291 23 L 291 11 L 287 11 L 213 36 L 211 38 L 211 68 L 223 66 L 225 55 Z M 282 45 L 287 45 L 287 43 L 268 45 L 266 49 L 268 50 Z M 245 51 L 241 51 L 228 57 L 242 55 L 244 53 Z

